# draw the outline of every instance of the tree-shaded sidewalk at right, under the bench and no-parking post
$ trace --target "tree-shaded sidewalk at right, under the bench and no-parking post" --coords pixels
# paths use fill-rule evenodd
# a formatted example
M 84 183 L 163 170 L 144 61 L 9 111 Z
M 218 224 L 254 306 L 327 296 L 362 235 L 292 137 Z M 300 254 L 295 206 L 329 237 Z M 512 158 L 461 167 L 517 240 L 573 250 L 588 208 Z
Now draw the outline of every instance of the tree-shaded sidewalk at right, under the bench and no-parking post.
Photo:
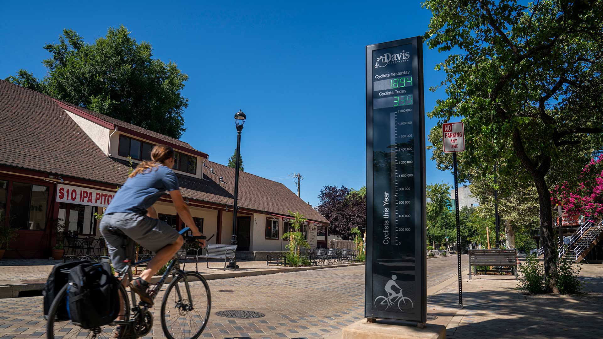
M 582 265 L 580 279 L 586 282 L 582 294 L 525 296 L 513 277 L 464 276 L 464 309 L 456 307 L 453 284 L 429 297 L 437 311 L 428 312 L 456 312 L 447 338 L 603 338 L 603 265 Z

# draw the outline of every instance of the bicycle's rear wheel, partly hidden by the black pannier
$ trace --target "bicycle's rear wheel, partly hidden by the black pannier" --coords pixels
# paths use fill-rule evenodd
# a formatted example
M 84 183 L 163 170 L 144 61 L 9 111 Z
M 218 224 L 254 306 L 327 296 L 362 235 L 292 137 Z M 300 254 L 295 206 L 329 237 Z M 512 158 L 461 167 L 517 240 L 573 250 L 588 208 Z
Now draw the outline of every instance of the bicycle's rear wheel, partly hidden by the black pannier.
M 117 325 L 105 325 L 95 329 L 83 329 L 79 325 L 75 325 L 71 320 L 57 320 L 57 315 L 63 312 L 66 305 L 67 286 L 65 285 L 57 296 L 52 301 L 52 305 L 48 311 L 48 320 L 46 321 L 46 338 L 47 339 L 83 339 L 83 338 L 113 338 L 113 332 L 116 331 Z M 128 309 L 127 294 L 125 288 L 119 285 L 119 294 L 125 300 L 125 309 Z M 125 314 L 125 320 L 130 317 L 130 312 L 121 311 Z

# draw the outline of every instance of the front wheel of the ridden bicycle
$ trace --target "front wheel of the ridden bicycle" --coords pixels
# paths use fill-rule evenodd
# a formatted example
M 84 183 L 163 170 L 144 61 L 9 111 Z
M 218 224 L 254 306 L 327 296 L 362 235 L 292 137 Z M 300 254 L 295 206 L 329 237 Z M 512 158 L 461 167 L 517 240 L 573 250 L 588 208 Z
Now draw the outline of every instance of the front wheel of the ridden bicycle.
M 197 272 L 178 274 L 161 303 L 161 327 L 168 339 L 196 339 L 207 326 L 212 297 Z

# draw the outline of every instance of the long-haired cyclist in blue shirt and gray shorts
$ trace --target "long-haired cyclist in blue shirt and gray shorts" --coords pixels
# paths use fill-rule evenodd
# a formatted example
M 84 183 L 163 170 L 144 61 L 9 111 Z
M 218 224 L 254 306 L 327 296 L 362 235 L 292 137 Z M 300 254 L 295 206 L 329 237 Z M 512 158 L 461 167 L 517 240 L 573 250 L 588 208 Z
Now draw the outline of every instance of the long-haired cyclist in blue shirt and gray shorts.
M 167 145 L 153 147 L 151 151 L 153 160 L 143 161 L 136 166 L 113 197 L 99 226 L 101 235 L 107 242 L 109 256 L 116 272 L 125 267 L 124 260 L 128 253 L 132 252 L 134 243 L 131 242 L 125 249 L 125 239 L 111 229 L 120 230 L 140 246 L 155 253 L 147 269 L 130 283 L 131 289 L 140 296 L 142 302 L 148 305 L 153 305 L 153 299 L 149 295 L 149 280 L 159 271 L 159 268 L 174 257 L 184 243 L 177 230 L 158 219 L 153 204 L 165 191 L 168 191 L 180 220 L 192 230 L 194 236 L 203 235 L 195 225 L 191 212 L 180 194 L 178 178 L 172 171 L 174 156 L 174 150 Z M 200 239 L 199 242 L 201 246 L 205 246 L 204 239 Z M 122 282 L 124 286 L 128 284 L 126 280 Z

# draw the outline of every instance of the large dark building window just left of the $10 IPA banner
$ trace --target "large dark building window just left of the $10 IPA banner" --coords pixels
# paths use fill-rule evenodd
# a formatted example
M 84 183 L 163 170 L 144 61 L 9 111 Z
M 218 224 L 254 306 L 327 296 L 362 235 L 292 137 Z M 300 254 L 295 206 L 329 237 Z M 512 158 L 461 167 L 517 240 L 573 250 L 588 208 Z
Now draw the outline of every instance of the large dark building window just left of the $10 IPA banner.
M 48 186 L 13 182 L 8 224 L 23 230 L 46 228 Z

